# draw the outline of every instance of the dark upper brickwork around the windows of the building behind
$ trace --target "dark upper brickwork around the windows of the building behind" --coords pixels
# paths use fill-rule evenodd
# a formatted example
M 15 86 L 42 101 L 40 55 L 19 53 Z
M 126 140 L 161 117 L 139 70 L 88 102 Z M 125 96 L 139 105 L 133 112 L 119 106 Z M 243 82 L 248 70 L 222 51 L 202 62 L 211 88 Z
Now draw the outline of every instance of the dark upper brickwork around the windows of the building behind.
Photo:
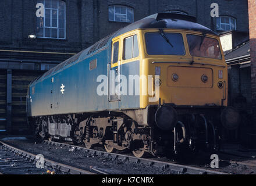
M 31 3 L 32 2 L 32 3 Z M 134 21 L 157 12 L 181 10 L 197 17 L 198 23 L 216 31 L 216 18 L 211 18 L 210 5 L 219 4 L 219 14 L 237 19 L 237 30 L 248 31 L 246 0 L 72 0 L 66 1 L 66 40 L 37 38 L 36 0 L 0 1 L 0 48 L 55 52 L 79 52 L 94 42 L 127 26 L 109 22 L 108 6 L 125 5 L 134 9 Z

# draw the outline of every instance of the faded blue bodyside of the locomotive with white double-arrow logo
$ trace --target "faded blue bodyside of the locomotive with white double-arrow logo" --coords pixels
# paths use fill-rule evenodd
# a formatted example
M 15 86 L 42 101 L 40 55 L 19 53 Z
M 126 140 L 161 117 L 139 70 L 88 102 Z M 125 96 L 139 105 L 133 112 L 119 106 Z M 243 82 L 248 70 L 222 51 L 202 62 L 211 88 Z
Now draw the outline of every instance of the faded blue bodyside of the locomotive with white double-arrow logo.
M 71 64 L 63 62 L 52 73 L 30 84 L 29 116 L 63 115 L 116 109 L 139 108 L 139 95 L 122 96 L 118 102 L 109 102 L 108 95 L 98 95 L 97 77 L 108 77 L 107 66 L 111 61 L 111 38 L 104 48 L 87 55 L 90 48 L 78 54 Z M 90 69 L 95 62 L 95 69 Z M 139 61 L 122 65 L 124 76 L 139 75 Z M 103 81 L 103 79 L 101 79 Z M 106 81 L 106 80 L 105 80 Z M 64 87 L 65 86 L 65 87 Z M 135 84 L 134 84 L 135 86 Z M 107 87 L 105 87 L 107 88 Z

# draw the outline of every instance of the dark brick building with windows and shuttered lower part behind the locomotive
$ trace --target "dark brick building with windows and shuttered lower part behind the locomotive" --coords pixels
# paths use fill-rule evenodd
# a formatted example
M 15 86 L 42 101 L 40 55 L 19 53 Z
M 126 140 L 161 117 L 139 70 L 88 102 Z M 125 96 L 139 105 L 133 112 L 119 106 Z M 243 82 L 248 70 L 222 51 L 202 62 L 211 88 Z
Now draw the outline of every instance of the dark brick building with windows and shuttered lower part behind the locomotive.
M 43 17 L 36 16 L 37 3 Z M 219 17 L 210 16 L 211 3 L 218 3 Z M 246 0 L 2 0 L 0 9 L 0 131 L 12 133 L 28 129 L 31 80 L 131 22 L 172 12 L 216 32 L 248 32 Z

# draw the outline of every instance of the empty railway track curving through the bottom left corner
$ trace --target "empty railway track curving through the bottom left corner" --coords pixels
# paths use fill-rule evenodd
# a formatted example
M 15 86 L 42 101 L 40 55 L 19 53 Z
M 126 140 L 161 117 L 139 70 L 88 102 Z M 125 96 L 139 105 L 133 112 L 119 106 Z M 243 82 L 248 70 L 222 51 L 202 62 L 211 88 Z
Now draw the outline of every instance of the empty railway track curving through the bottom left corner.
M 0 141 L 0 174 L 41 174 L 47 170 L 57 174 L 95 174 L 67 164 L 44 158 L 44 168 L 38 169 L 35 164 L 37 155 L 18 149 Z

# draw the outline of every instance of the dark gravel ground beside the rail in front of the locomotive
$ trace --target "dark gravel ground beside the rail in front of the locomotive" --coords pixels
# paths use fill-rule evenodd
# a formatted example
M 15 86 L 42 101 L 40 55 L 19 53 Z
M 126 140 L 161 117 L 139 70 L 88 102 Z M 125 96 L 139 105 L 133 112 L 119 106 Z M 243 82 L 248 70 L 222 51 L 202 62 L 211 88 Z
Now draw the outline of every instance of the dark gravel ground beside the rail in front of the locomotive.
M 176 174 L 172 170 L 162 170 L 157 167 L 146 166 L 144 164 L 134 164 L 130 162 L 124 162 L 122 160 L 113 160 L 112 158 L 106 158 L 105 156 L 91 155 L 84 151 L 78 151 L 68 146 L 55 146 L 47 145 L 44 143 L 35 144 L 34 140 L 8 140 L 9 144 L 17 146 L 17 148 L 23 149 L 34 154 L 42 154 L 45 158 L 55 160 L 56 162 L 69 164 L 71 166 L 79 167 L 81 169 L 90 170 L 90 166 L 95 167 L 98 170 L 104 171 L 109 174 Z M 103 151 L 102 147 L 96 147 L 96 150 Z M 118 152 L 120 153 L 120 152 Z M 125 152 L 127 155 L 131 155 L 129 152 Z M 219 169 L 225 173 L 232 174 L 256 174 L 255 166 L 246 166 L 244 164 L 229 163 L 230 161 L 241 162 L 244 158 L 236 156 L 225 155 L 223 153 L 217 153 L 219 155 Z M 198 153 L 197 155 L 190 156 L 178 156 L 178 158 L 152 158 L 170 163 L 186 164 L 187 166 L 195 166 L 200 168 L 210 168 L 210 155 L 204 153 Z M 213 169 L 211 169 L 213 170 Z

